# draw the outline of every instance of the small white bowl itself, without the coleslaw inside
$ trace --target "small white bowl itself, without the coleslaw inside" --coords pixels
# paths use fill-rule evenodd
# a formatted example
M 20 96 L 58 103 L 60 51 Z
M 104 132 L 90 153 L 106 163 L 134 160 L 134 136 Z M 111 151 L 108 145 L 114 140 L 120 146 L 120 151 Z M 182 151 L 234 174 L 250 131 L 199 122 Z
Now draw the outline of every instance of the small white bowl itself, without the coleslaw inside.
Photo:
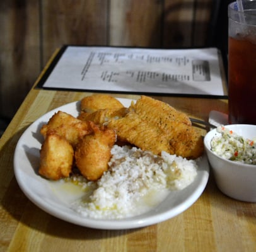
M 248 139 L 256 137 L 256 125 L 233 124 L 224 127 Z M 256 202 L 256 165 L 224 159 L 211 151 L 211 140 L 219 135 L 216 129 L 204 137 L 204 147 L 216 184 L 224 194 L 236 200 Z

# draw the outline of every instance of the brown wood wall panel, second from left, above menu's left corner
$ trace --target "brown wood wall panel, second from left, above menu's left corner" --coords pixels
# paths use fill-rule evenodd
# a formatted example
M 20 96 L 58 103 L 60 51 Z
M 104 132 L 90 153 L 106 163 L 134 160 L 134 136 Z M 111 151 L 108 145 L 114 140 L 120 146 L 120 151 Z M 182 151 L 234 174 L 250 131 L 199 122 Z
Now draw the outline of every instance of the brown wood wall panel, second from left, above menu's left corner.
M 106 0 L 42 0 L 44 64 L 63 44 L 107 45 Z

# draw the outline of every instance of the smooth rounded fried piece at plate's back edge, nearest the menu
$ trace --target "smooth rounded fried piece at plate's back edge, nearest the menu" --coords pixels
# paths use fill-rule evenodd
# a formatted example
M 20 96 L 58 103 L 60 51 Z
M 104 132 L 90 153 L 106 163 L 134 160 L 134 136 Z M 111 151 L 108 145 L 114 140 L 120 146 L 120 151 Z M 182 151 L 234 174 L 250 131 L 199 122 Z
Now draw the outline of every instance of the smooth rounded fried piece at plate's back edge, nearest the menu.
M 102 110 L 110 108 L 112 110 L 118 110 L 123 108 L 124 105 L 119 100 L 110 95 L 95 94 L 86 96 L 81 100 L 81 111 L 92 113 L 96 110 Z

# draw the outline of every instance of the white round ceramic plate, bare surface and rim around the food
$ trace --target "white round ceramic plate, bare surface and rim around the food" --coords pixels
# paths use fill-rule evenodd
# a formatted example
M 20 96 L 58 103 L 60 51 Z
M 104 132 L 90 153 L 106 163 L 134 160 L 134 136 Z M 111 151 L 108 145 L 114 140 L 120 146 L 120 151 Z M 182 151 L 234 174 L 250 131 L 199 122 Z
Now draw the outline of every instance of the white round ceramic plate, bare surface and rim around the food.
M 129 106 L 131 100 L 119 99 L 124 106 Z M 79 101 L 69 103 L 46 113 L 36 120 L 21 135 L 17 143 L 14 157 L 15 176 L 21 190 L 40 209 L 79 226 L 93 227 L 96 229 L 131 229 L 149 226 L 166 221 L 188 209 L 200 197 L 206 187 L 209 177 L 209 165 L 204 154 L 199 163 L 199 170 L 194 182 L 187 188 L 171 192 L 157 207 L 141 215 L 120 220 L 91 219 L 82 217 L 69 207 L 70 202 L 81 197 L 81 192 L 67 188 L 60 182 L 45 180 L 38 175 L 40 154 L 39 150 L 43 141 L 40 127 L 47 123 L 49 118 L 57 111 L 78 116 Z M 67 184 L 67 183 L 66 183 Z M 70 190 L 69 190 L 70 189 Z

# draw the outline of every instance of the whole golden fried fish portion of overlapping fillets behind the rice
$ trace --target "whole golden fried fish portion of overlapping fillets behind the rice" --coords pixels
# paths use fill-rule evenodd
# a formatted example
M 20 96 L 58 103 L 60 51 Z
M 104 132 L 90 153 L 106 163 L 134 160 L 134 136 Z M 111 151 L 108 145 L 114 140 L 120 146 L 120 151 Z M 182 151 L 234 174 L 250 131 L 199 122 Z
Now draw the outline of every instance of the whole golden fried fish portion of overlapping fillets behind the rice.
M 194 159 L 204 149 L 201 134 L 187 115 L 147 96 L 132 104 L 124 117 L 110 120 L 107 127 L 116 130 L 119 140 L 158 155 L 166 151 Z

